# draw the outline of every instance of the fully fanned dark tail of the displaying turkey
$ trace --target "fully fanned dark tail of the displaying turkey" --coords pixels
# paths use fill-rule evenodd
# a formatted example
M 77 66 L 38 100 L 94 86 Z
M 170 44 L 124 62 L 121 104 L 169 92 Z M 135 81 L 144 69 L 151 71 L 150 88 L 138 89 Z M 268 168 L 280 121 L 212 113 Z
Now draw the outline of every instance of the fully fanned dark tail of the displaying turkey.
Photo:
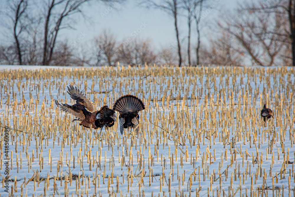
M 120 113 L 127 111 L 139 112 L 145 109 L 143 102 L 133 95 L 124 95 L 115 102 L 113 110 L 116 110 Z

